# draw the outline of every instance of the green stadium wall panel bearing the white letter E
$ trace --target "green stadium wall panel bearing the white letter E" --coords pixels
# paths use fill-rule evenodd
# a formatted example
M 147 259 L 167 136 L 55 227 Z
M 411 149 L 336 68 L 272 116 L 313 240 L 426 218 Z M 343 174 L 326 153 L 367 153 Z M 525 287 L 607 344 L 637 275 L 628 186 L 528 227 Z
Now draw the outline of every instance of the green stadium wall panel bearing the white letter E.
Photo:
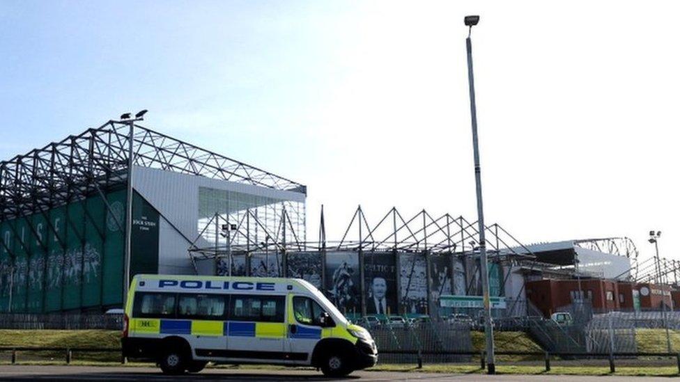
M 62 276 L 64 264 L 63 244 L 66 241 L 66 208 L 57 207 L 49 211 L 49 220 L 53 230 L 47 234 L 47 291 L 45 292 L 45 310 L 54 312 L 61 310 Z M 60 242 L 61 240 L 61 242 Z

